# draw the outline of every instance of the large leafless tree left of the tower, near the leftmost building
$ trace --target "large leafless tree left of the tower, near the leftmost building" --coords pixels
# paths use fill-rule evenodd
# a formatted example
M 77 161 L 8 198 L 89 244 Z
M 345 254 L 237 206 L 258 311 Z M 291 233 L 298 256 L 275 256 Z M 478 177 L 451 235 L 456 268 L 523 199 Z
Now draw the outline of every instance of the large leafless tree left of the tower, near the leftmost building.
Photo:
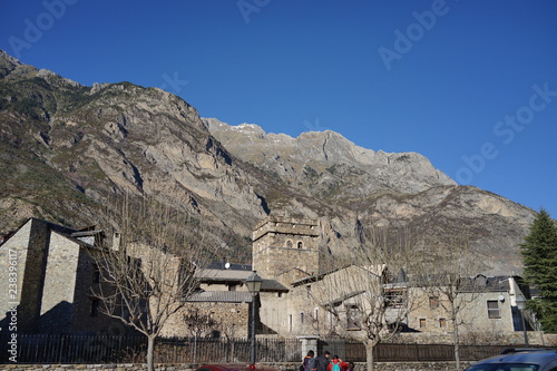
M 147 365 L 154 370 L 154 349 L 165 323 L 189 304 L 196 287 L 196 264 L 209 256 L 195 221 L 153 198 L 125 197 L 113 213 L 113 241 L 95 252 L 100 284 L 94 294 L 101 311 L 148 339 Z M 199 238 L 199 236 L 202 236 Z

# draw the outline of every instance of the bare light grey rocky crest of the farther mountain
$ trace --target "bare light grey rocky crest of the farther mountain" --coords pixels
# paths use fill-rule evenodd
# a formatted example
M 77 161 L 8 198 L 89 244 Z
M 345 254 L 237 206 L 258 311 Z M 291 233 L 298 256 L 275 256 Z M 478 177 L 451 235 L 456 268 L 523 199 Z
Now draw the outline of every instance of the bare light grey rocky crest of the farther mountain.
M 266 134 L 254 124 L 231 126 L 216 118 L 203 120 L 234 156 L 273 170 L 286 183 L 305 184 L 311 192 L 346 186 L 341 193 L 356 197 L 381 189 L 417 193 L 432 186 L 456 185 L 420 154 L 374 152 L 332 130 L 306 131 L 293 138 Z M 350 182 L 361 186 L 348 186 Z

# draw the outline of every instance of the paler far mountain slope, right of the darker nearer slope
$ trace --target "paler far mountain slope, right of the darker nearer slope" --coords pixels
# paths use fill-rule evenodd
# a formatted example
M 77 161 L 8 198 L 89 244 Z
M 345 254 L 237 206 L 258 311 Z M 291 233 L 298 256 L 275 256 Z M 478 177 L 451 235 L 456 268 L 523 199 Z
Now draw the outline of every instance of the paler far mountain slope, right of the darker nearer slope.
M 469 238 L 485 272 L 520 272 L 518 244 L 532 211 L 477 187 L 458 186 L 420 154 L 373 152 L 334 131 L 292 138 L 253 124 L 203 120 L 234 156 L 324 201 L 330 208 L 321 216 L 330 213 L 328 240 L 338 248 L 358 245 L 358 238 L 339 235 L 354 236 L 371 225 L 405 226 L 424 254 L 428 246 L 449 246 L 459 236 Z

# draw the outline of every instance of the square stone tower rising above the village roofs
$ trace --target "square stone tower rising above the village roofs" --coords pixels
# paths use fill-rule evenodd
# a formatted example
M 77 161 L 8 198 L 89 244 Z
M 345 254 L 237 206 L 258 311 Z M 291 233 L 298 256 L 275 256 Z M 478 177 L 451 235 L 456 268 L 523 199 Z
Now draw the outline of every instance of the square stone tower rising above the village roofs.
M 292 269 L 316 274 L 319 242 L 317 221 L 268 216 L 253 232 L 253 269 L 268 279 Z

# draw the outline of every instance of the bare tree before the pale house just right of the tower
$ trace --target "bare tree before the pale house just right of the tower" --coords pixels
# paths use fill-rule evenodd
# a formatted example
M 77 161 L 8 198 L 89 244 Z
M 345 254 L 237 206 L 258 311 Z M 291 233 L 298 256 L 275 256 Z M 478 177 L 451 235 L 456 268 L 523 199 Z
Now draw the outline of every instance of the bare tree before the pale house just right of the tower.
M 412 236 L 408 228 L 374 228 L 361 246 L 335 260 L 342 269 L 322 274 L 311 287 L 320 307 L 334 318 L 334 331 L 365 345 L 367 368 L 374 368 L 373 349 L 407 322 L 411 311 L 409 282 Z

